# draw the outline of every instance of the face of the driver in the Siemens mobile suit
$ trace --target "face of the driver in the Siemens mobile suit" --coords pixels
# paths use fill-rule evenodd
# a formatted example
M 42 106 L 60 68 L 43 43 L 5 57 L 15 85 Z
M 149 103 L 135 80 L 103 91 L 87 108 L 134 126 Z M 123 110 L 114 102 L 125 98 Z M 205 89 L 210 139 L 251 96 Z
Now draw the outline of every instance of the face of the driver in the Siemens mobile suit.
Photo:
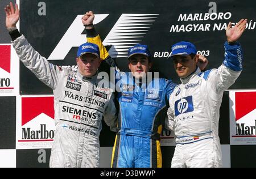
M 79 66 L 79 72 L 82 76 L 92 77 L 97 73 L 98 67 L 101 65 L 101 60 L 94 54 L 86 53 L 76 59 Z

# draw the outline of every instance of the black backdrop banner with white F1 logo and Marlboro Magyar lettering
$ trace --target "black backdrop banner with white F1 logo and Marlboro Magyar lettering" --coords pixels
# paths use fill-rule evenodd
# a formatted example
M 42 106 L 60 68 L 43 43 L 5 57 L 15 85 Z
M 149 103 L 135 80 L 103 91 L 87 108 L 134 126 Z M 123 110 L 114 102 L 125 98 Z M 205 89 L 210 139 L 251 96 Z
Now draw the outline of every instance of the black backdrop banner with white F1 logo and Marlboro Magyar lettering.
M 122 5 L 122 8 L 120 8 Z M 77 15 L 92 10 L 98 15 L 96 29 L 109 53 L 121 70 L 127 68 L 127 46 L 147 44 L 154 61 L 154 71 L 180 83 L 171 61 L 167 60 L 171 46 L 178 41 L 193 42 L 199 53 L 217 68 L 224 59 L 225 28 L 229 22 L 248 19 L 248 26 L 240 39 L 244 53 L 244 69 L 236 89 L 256 88 L 253 57 L 255 52 L 254 1 L 20 1 L 20 31 L 38 52 L 56 65 L 76 65 L 79 40 L 86 41 Z M 117 36 L 117 33 L 122 33 Z M 78 41 L 76 42 L 76 39 Z M 59 50 L 57 50 L 59 49 Z M 62 54 L 62 55 L 60 55 Z M 124 57 L 123 57 L 124 56 Z M 22 94 L 51 93 L 23 65 L 20 67 Z

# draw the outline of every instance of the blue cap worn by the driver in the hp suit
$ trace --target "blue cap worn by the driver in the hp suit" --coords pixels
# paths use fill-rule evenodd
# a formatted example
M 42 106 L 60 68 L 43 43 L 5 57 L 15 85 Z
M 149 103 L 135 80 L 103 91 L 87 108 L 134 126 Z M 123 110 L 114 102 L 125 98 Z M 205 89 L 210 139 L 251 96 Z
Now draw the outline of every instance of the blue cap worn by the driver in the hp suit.
M 172 45 L 172 52 L 168 58 L 172 56 L 189 56 L 192 53 L 197 53 L 196 46 L 191 42 L 181 41 Z

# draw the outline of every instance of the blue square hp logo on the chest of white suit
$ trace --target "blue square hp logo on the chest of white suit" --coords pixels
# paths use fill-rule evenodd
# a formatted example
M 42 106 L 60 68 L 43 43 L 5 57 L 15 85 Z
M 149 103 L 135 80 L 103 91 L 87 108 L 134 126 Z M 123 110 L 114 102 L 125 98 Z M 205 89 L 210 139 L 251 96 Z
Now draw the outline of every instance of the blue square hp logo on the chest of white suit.
M 179 116 L 180 114 L 189 113 L 194 110 L 193 107 L 193 97 L 183 97 L 180 100 L 175 102 L 175 116 Z

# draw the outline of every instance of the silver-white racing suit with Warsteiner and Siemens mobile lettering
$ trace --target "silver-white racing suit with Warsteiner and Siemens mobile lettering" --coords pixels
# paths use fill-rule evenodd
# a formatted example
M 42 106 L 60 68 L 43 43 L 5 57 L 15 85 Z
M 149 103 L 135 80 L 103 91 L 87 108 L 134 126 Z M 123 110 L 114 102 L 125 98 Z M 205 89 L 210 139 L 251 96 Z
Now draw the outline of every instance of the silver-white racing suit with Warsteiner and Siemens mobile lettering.
M 20 61 L 53 90 L 56 133 L 49 166 L 100 167 L 102 117 L 111 130 L 117 125 L 113 92 L 98 86 L 97 75 L 85 78 L 71 67 L 52 65 L 23 35 L 13 46 Z

